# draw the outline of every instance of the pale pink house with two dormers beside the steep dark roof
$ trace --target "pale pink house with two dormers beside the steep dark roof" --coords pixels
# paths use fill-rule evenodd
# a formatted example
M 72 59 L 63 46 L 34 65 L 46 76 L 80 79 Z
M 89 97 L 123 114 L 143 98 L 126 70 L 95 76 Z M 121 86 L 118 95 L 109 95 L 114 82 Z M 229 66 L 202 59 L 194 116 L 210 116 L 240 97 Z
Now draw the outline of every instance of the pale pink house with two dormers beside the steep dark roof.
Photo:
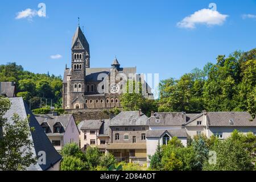
M 79 129 L 72 114 L 58 115 L 53 112 L 36 115 L 36 119 L 57 151 L 61 151 L 67 143 L 79 144 Z

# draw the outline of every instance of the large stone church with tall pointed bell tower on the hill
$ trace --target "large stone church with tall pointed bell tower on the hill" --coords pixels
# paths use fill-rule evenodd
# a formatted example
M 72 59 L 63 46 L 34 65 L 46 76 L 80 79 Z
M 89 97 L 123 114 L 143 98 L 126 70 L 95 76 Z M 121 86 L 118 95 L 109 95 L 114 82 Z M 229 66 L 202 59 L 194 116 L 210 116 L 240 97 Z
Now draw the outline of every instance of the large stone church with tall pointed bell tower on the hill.
M 117 58 L 109 68 L 90 68 L 90 48 L 80 26 L 72 39 L 71 68 L 63 78 L 63 109 L 111 109 L 121 107 L 119 96 L 126 81 L 142 83 L 144 96 L 152 96 L 151 88 L 136 67 L 122 68 Z

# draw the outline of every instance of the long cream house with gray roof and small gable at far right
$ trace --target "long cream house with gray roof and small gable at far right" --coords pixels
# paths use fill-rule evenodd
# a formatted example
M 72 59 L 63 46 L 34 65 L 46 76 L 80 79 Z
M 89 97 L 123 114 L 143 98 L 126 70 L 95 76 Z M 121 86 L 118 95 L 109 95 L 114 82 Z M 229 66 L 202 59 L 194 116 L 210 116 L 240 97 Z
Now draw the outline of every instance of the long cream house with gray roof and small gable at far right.
M 215 135 L 219 139 L 230 137 L 234 130 L 240 133 L 256 133 L 256 119 L 250 121 L 247 112 L 207 112 L 193 115 L 185 124 L 188 135 L 205 134 L 208 138 Z M 199 133 L 201 131 L 201 133 Z

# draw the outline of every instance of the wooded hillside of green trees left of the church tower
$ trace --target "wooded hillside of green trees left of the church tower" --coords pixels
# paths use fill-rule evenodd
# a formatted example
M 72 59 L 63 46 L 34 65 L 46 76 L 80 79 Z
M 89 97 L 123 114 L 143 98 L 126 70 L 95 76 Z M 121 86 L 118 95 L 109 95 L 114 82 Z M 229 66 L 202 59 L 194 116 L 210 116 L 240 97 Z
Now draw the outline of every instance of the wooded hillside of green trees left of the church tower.
M 31 101 L 31 109 L 40 107 L 40 98 L 42 106 L 46 105 L 47 99 L 48 104 L 52 100 L 53 106 L 61 107 L 61 76 L 35 74 L 24 71 L 21 65 L 8 63 L 0 65 L 0 81 L 16 82 L 17 96 L 23 97 L 27 104 Z

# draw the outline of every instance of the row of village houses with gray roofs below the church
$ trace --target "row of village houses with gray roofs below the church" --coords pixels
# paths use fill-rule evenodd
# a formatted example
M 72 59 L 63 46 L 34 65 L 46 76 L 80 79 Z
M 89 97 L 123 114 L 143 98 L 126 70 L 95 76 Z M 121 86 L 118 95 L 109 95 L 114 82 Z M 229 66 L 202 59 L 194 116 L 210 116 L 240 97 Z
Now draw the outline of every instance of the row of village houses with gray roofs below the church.
M 23 99 L 15 97 L 7 87 L 13 90 L 10 85 L 0 86 L 1 94 L 4 90 L 11 101 L 4 117 L 11 123 L 15 113 L 21 119 L 29 115 L 29 127 L 35 128 L 30 137 L 33 154 L 39 158 L 43 151 L 47 156 L 46 163 L 32 164 L 28 170 L 59 170 L 60 151 L 67 143 L 79 144 L 82 151 L 98 147 L 102 153 L 112 153 L 118 161 L 144 164 L 149 162 L 149 155 L 155 154 L 158 145 L 167 144 L 172 137 L 187 146 L 188 138 L 201 134 L 218 139 L 228 138 L 235 129 L 256 134 L 256 119 L 249 121 L 251 116 L 247 112 L 152 112 L 148 118 L 141 110 L 122 111 L 113 118 L 85 120 L 77 126 L 72 114 L 32 114 Z

